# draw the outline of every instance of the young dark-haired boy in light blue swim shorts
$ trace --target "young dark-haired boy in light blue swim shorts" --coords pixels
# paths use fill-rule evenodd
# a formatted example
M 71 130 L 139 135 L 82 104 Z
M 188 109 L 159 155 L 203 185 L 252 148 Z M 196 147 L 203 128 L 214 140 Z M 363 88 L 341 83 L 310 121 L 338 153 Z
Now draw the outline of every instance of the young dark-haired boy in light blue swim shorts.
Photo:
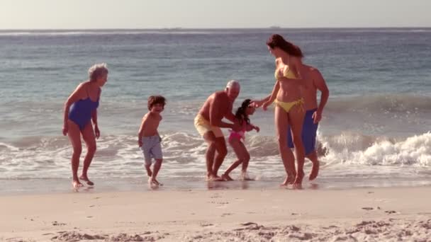
M 148 183 L 150 185 L 161 185 L 157 180 L 160 166 L 162 166 L 162 139 L 157 132 L 162 116 L 160 113 L 164 110 L 165 98 L 162 96 L 150 96 L 148 98 L 148 110 L 142 117 L 138 133 L 138 145 L 142 149 L 145 158 L 145 169 L 147 169 Z M 153 170 L 151 171 L 151 159 L 155 159 Z

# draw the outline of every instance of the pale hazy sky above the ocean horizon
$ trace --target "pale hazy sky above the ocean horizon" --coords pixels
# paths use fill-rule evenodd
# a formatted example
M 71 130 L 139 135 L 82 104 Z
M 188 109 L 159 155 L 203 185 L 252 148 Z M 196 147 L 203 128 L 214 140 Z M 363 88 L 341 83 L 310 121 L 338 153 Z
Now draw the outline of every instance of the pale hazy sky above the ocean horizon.
M 0 0 L 0 29 L 431 27 L 431 0 Z

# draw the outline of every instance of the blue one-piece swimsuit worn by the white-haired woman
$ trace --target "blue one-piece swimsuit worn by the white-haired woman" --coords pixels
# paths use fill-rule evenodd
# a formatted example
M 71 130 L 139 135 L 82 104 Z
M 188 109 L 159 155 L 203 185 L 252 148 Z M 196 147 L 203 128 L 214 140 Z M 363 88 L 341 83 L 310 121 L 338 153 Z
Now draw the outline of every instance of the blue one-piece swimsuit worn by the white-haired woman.
M 91 113 L 99 107 L 99 100 L 92 101 L 89 97 L 72 104 L 69 110 L 69 120 L 72 120 L 82 130 L 91 121 Z

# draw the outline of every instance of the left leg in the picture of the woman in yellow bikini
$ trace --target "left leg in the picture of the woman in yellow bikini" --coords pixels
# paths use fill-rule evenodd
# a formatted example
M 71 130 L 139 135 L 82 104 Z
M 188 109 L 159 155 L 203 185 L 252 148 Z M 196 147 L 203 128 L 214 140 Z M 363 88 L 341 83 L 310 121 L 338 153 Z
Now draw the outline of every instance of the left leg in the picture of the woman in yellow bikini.
M 279 151 L 281 155 L 281 160 L 283 161 L 284 170 L 286 171 L 286 179 L 281 185 L 288 185 L 289 183 L 293 183 L 295 180 L 296 172 L 295 172 L 295 157 L 289 146 L 287 146 L 287 127 L 289 127 L 289 118 L 286 111 L 283 108 L 280 108 L 276 105 L 275 108 L 275 126 L 276 126 L 276 135 L 279 141 Z

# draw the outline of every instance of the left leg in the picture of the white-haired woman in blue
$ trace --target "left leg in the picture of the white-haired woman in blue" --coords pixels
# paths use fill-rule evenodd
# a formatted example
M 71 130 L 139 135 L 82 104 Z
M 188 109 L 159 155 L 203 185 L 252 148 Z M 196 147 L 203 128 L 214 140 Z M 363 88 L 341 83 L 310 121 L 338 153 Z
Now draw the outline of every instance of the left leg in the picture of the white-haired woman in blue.
M 79 126 L 72 122 L 71 120 L 67 120 L 68 132 L 70 144 L 72 144 L 73 153 L 72 153 L 72 185 L 74 188 L 82 187 L 82 183 L 79 182 L 78 179 L 78 168 L 79 168 L 79 156 L 81 156 L 82 152 L 82 144 L 81 144 L 81 131 L 79 130 Z

